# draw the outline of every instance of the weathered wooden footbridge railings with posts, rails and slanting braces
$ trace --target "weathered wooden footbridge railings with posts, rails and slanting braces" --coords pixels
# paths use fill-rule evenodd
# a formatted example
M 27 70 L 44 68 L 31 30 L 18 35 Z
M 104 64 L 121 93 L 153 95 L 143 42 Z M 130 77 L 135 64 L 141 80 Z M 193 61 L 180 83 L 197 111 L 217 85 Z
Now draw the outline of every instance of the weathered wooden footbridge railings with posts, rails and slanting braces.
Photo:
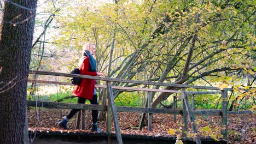
M 174 121 L 176 120 L 176 115 L 182 115 L 182 136 L 186 137 L 185 131 L 188 129 L 188 117 L 190 118 L 192 128 L 194 133 L 197 133 L 197 128 L 195 124 L 194 115 L 210 115 L 210 116 L 220 116 L 222 119 L 222 131 L 221 133 L 226 136 L 227 133 L 227 121 L 228 121 L 228 114 L 232 113 L 235 114 L 237 112 L 228 112 L 228 101 L 227 95 L 228 91 L 232 91 L 232 89 L 225 88 L 219 89 L 217 87 L 206 87 L 206 86 L 193 86 L 193 85 L 179 85 L 173 83 L 159 83 L 159 82 L 150 82 L 150 81 L 136 81 L 136 80 L 124 80 L 124 79 L 113 79 L 107 77 L 98 77 L 98 76 L 88 76 L 88 75 L 77 75 L 77 74 L 65 74 L 65 73 L 53 73 L 49 71 L 30 71 L 30 74 L 33 75 L 53 75 L 53 76 L 64 76 L 64 77 L 80 77 L 86 79 L 95 79 L 106 81 L 106 85 L 96 85 L 99 88 L 107 89 L 107 99 L 108 104 L 106 105 L 86 105 L 86 104 L 69 104 L 69 103 L 54 103 L 54 102 L 46 102 L 46 101 L 32 101 L 27 100 L 27 106 L 40 106 L 46 107 L 51 109 L 80 109 L 78 113 L 77 119 L 77 129 L 79 128 L 79 124 L 81 124 L 82 129 L 84 127 L 84 111 L 85 110 L 99 110 L 105 111 L 107 114 L 107 135 L 108 135 L 108 143 L 111 143 L 111 115 L 114 119 L 114 127 L 115 127 L 115 136 L 117 138 L 118 143 L 123 143 L 120 127 L 118 123 L 118 115 L 117 112 L 138 112 L 143 113 L 141 118 L 141 123 L 139 125 L 139 129 L 143 127 L 143 121 L 146 116 L 148 115 L 148 130 L 152 130 L 152 113 L 167 113 L 174 115 Z M 56 82 L 56 81 L 43 81 L 43 80 L 28 80 L 28 82 L 36 82 L 36 83 L 52 83 L 57 85 L 72 85 L 70 82 Z M 135 87 L 119 87 L 119 86 L 112 86 L 112 82 L 121 82 L 121 83 L 135 83 L 137 85 L 151 85 L 151 86 L 171 86 L 176 87 L 177 89 L 181 89 L 181 91 L 175 90 L 165 90 L 165 89 L 151 89 L 151 88 L 135 88 Z M 189 92 L 186 89 L 205 89 L 203 92 Z M 124 90 L 132 90 L 132 91 L 147 91 L 148 98 L 146 107 L 125 107 L 125 106 L 115 106 L 114 103 L 114 96 L 113 96 L 113 89 L 124 89 Z M 210 91 L 209 91 L 210 90 Z M 176 97 L 173 99 L 173 109 L 155 109 L 152 108 L 152 92 L 162 92 L 162 93 L 179 93 L 181 94 L 182 98 L 182 109 L 176 109 Z M 222 94 L 222 110 L 195 110 L 194 106 L 194 95 L 196 94 Z M 189 103 L 188 96 L 192 95 L 191 104 Z M 80 117 L 80 118 L 79 118 Z M 81 119 L 81 120 L 80 120 Z M 197 136 L 196 143 L 201 143 L 200 138 Z

